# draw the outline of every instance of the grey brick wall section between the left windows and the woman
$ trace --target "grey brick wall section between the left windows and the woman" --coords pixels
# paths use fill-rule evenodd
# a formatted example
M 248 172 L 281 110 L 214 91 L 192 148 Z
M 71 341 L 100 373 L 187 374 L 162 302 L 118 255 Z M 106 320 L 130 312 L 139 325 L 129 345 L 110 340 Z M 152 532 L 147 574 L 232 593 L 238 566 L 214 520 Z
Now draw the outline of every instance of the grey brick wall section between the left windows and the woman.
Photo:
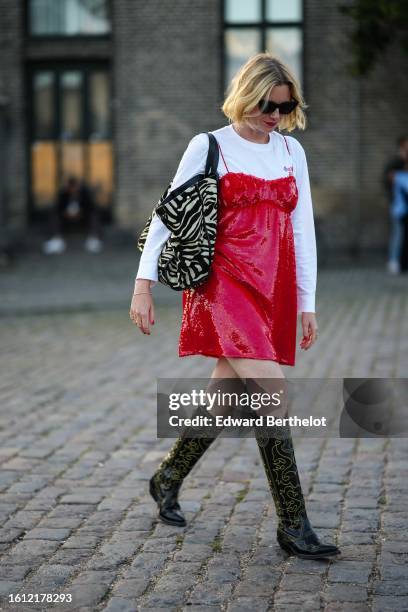
M 218 0 L 114 4 L 117 222 L 140 229 L 195 133 L 218 111 Z

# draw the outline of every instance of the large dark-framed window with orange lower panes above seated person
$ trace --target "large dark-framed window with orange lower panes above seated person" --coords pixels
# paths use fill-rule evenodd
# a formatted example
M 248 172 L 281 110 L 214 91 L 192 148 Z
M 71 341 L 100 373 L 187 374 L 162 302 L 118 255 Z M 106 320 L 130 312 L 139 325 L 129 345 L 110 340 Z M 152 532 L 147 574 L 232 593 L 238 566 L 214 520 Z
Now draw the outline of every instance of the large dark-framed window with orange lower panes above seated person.
M 110 71 L 105 64 L 33 66 L 30 99 L 30 202 L 52 206 L 74 175 L 108 209 L 113 195 Z

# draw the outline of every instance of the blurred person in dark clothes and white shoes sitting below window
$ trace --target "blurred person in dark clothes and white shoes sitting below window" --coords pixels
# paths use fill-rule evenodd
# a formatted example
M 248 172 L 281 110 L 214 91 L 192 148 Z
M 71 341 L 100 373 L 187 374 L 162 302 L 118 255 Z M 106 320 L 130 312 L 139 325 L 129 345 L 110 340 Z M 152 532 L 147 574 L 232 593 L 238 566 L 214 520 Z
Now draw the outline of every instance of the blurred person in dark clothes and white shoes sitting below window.
M 65 251 L 66 241 L 63 234 L 66 225 L 72 222 L 85 225 L 85 249 L 89 253 L 100 253 L 103 248 L 100 211 L 95 206 L 91 191 L 75 176 L 70 176 L 60 189 L 57 204 L 50 213 L 51 237 L 43 244 L 43 252 L 46 255 Z

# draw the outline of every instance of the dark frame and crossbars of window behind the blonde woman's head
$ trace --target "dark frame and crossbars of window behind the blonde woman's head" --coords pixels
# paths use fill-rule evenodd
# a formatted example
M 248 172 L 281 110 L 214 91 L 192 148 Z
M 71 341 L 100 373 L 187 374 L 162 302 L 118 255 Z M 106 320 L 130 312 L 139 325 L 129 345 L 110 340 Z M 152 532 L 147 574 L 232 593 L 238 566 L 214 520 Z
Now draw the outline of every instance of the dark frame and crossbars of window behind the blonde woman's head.
M 226 2 L 227 0 L 221 0 L 220 2 L 220 15 L 221 15 L 221 48 L 222 48 L 222 60 L 221 60 L 221 88 L 222 92 L 225 93 L 228 87 L 228 83 L 226 82 L 227 75 L 227 46 L 225 44 L 225 32 L 229 29 L 257 29 L 260 31 L 260 50 L 258 52 L 262 52 L 266 49 L 266 32 L 268 29 L 276 28 L 288 28 L 293 27 L 297 28 L 302 33 L 302 53 L 300 58 L 300 82 L 302 87 L 302 92 L 304 94 L 306 82 L 305 82 L 305 31 L 306 31 L 306 0 L 301 0 L 302 7 L 302 19 L 299 21 L 269 21 L 266 19 L 266 2 L 267 0 L 260 0 L 261 2 L 261 19 L 259 21 L 253 22 L 241 22 L 241 23 L 232 23 L 226 21 L 225 12 L 226 12 Z

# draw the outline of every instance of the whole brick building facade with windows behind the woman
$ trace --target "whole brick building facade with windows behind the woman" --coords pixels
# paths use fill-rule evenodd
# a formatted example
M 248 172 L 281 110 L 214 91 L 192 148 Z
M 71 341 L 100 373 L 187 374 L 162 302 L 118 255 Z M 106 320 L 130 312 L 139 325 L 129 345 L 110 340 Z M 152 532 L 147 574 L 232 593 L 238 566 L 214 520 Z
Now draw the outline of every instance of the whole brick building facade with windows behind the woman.
M 222 127 L 231 75 L 268 50 L 304 91 L 315 216 L 332 248 L 384 249 L 382 169 L 406 130 L 406 56 L 354 78 L 331 0 L 0 0 L 0 219 L 41 227 L 61 182 L 89 183 L 137 236 L 192 136 Z M 6 126 L 4 129 L 2 126 Z

